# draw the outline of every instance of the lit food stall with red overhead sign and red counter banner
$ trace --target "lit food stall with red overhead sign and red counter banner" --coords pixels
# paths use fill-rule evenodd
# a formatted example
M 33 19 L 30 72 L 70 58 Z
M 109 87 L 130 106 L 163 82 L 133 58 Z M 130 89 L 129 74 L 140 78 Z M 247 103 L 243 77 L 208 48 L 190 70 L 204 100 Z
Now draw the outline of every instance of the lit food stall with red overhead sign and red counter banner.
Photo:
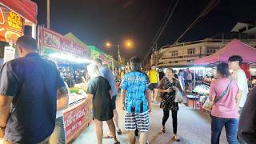
M 72 142 L 91 121 L 91 99 L 86 98 L 86 65 L 90 50 L 39 26 L 39 46 L 43 57 L 57 63 L 62 78 L 70 87 L 69 107 L 64 110 L 66 142 Z M 89 53 L 89 54 L 88 54 Z M 80 80 L 77 80 L 79 78 Z

